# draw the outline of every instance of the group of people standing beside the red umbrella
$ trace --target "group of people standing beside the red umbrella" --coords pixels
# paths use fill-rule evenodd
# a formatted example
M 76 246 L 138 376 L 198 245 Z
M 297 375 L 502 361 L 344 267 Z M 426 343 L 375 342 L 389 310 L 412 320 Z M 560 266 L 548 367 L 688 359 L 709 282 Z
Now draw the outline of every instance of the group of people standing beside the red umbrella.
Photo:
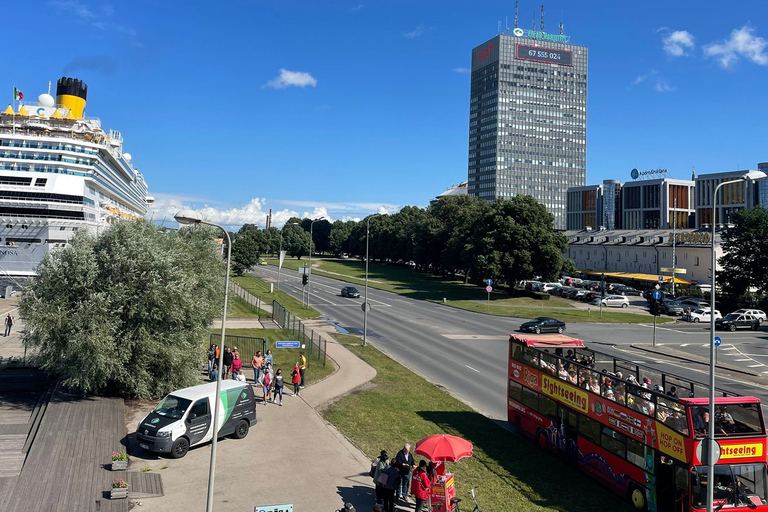
M 414 469 L 415 468 L 415 469 Z M 420 460 L 418 466 L 411 454 L 411 445 L 406 444 L 397 452 L 394 460 L 389 459 L 386 450 L 371 462 L 370 476 L 376 486 L 376 512 L 393 512 L 395 501 L 410 502 L 413 494 L 416 512 L 422 512 L 429 499 L 429 489 L 438 475 L 445 473 L 442 463 L 434 464 Z M 378 508 L 378 510 L 377 510 Z

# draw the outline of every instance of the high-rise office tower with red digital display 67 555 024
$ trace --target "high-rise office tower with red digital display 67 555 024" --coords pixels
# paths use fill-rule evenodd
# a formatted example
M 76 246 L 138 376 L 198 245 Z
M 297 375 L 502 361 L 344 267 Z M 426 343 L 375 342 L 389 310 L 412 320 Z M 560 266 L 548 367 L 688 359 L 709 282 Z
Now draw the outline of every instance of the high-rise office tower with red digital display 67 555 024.
M 469 194 L 531 195 L 556 229 L 587 175 L 587 48 L 569 40 L 515 27 L 472 50 Z

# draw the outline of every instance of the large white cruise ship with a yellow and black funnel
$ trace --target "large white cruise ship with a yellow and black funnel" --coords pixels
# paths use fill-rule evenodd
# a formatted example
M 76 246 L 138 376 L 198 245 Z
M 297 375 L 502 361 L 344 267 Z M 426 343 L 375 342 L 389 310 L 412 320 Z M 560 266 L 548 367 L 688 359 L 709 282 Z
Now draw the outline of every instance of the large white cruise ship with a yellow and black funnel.
M 0 114 L 0 277 L 33 276 L 75 231 L 143 217 L 153 201 L 120 132 L 83 115 L 87 92 L 64 77 L 55 99 L 49 86 Z

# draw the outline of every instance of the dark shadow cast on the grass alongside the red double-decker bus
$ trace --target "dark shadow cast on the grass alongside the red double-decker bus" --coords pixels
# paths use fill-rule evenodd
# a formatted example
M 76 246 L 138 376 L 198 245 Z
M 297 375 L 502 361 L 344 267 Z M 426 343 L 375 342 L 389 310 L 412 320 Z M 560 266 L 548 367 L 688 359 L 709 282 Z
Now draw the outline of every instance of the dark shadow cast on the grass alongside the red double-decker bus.
M 437 425 L 439 432 L 436 433 L 470 441 L 475 447 L 473 458 L 500 478 L 503 485 L 514 488 L 538 506 L 569 512 L 629 510 L 611 491 L 557 457 L 543 454 L 532 441 L 513 434 L 507 426 L 500 429 L 502 421 L 490 420 L 473 411 L 420 411 L 417 414 Z M 463 483 L 465 488 L 470 485 L 460 482 L 461 462 L 454 464 L 453 469 L 458 485 Z M 478 484 L 482 488 L 482 482 L 472 483 Z

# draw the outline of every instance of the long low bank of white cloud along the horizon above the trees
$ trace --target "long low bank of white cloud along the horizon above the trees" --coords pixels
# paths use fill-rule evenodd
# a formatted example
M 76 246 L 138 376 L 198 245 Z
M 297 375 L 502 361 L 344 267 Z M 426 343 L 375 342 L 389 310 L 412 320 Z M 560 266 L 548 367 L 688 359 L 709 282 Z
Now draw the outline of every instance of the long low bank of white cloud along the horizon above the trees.
M 282 201 L 263 198 L 251 199 L 244 206 L 223 207 L 211 204 L 205 199 L 155 193 L 148 218 L 158 224 L 174 226 L 174 215 L 183 208 L 190 208 L 203 214 L 203 218 L 228 229 L 236 230 L 243 224 L 266 226 L 269 209 L 272 208 L 272 225 L 282 227 L 291 217 L 302 219 L 326 219 L 329 222 L 341 219 L 359 220 L 372 213 L 391 214 L 401 206 L 382 203 L 327 203 L 317 201 Z

